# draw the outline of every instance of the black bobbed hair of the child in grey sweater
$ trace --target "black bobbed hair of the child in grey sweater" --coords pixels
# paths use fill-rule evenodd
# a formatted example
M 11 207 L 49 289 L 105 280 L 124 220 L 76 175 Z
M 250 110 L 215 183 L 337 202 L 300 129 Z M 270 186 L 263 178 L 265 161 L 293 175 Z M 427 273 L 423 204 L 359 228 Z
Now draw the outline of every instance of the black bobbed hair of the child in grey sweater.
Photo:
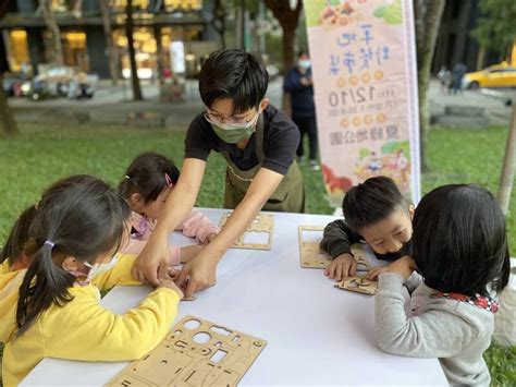
M 491 193 L 450 184 L 428 193 L 414 216 L 414 261 L 425 283 L 469 297 L 500 292 L 511 261 L 505 218 Z

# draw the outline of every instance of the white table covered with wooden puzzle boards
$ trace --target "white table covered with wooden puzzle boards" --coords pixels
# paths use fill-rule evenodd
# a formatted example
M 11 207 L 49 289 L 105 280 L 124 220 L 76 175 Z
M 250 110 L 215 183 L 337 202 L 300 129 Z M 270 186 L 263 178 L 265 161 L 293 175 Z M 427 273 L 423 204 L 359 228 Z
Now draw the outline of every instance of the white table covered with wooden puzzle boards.
M 225 210 L 202 211 L 218 222 Z M 275 214 L 272 250 L 230 250 L 217 286 L 182 302 L 176 319 L 195 315 L 265 339 L 268 344 L 242 385 L 446 385 L 437 359 L 395 356 L 377 347 L 372 297 L 335 289 L 322 270 L 300 268 L 297 227 L 330 220 Z M 192 244 L 177 233 L 171 240 Z M 123 313 L 148 292 L 116 287 L 101 303 Z M 99 386 L 126 364 L 45 359 L 22 385 Z

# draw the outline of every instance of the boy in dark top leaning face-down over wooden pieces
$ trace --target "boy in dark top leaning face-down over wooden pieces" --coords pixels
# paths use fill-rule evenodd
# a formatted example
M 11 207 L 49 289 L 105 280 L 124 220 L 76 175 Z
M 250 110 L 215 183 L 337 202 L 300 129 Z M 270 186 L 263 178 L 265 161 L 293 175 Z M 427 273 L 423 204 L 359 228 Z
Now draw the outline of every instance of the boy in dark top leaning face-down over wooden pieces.
M 321 241 L 321 250 L 333 258 L 324 271 L 328 277 L 341 280 L 356 275 L 351 246 L 360 241 L 366 241 L 379 259 L 394 261 L 409 254 L 414 206 L 392 179 L 370 178 L 352 188 L 342 209 L 344 219 L 329 223 Z

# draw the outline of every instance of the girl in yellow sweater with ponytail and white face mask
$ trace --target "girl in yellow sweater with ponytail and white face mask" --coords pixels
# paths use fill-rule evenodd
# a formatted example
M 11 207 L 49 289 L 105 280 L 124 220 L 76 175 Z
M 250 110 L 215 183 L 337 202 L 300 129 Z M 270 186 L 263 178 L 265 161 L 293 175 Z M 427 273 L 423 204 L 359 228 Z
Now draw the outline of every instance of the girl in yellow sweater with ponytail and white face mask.
M 44 358 L 130 361 L 170 329 L 183 293 L 170 278 L 138 307 L 116 315 L 99 289 L 137 285 L 134 258 L 115 256 L 127 240 L 130 209 L 98 179 L 62 180 L 44 194 L 30 222 L 36 253 L 27 269 L 0 268 L 4 386 L 17 385 Z

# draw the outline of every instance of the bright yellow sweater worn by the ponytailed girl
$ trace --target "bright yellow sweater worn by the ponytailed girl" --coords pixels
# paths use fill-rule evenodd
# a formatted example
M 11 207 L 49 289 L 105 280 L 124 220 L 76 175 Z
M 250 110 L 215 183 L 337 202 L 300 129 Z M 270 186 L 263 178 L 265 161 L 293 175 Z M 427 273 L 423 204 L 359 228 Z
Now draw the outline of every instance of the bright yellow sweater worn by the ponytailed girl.
M 130 361 L 142 358 L 167 335 L 177 312 L 176 292 L 159 288 L 138 307 L 116 315 L 100 306 L 99 289 L 114 285 L 139 285 L 131 278 L 134 256 L 119 254 L 111 270 L 99 274 L 91 285 L 70 288 L 73 300 L 53 305 L 19 338 L 15 313 L 25 270 L 10 271 L 0 265 L 0 341 L 5 387 L 16 386 L 44 359 L 82 361 Z

